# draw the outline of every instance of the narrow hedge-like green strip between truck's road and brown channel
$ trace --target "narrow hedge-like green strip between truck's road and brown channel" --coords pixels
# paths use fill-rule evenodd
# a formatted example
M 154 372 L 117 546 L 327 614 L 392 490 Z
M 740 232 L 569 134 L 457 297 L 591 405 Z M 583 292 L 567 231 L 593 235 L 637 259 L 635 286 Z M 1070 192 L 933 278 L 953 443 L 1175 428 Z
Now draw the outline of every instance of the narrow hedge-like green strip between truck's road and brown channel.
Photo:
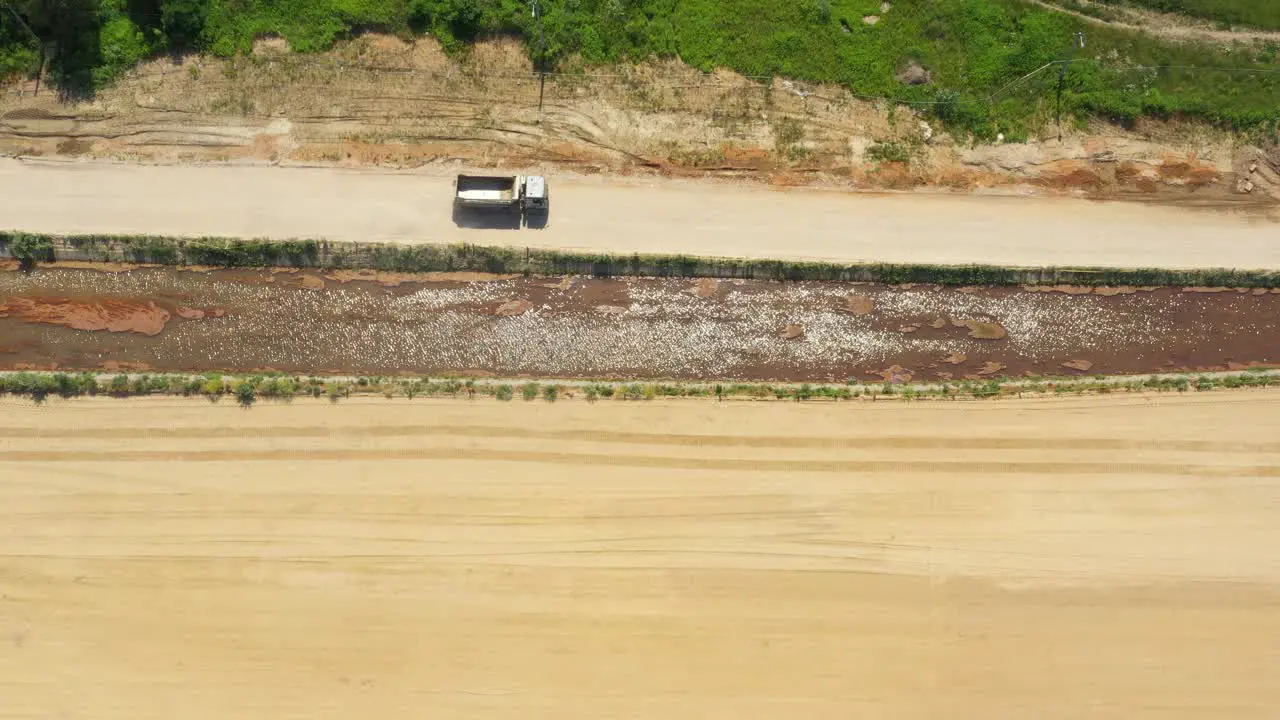
M 1280 272 L 1158 268 L 1006 268 L 893 263 L 823 263 L 609 255 L 484 245 L 389 245 L 325 240 L 229 240 L 147 236 L 49 236 L 0 231 L 0 256 L 27 266 L 63 260 L 206 265 L 219 268 L 315 268 L 399 273 L 475 272 L 522 275 L 741 278 L 845 281 L 943 286 L 1080 284 L 1138 287 L 1280 287 Z

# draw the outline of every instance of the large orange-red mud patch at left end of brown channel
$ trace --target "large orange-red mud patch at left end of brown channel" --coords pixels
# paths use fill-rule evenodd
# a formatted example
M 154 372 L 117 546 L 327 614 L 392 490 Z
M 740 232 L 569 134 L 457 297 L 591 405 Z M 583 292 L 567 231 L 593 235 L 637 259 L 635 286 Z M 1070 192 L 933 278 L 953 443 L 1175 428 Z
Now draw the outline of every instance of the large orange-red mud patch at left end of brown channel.
M 12 297 L 0 305 L 0 318 L 65 325 L 77 331 L 156 336 L 164 332 L 170 315 L 150 300 L 104 299 L 84 302 L 67 297 Z

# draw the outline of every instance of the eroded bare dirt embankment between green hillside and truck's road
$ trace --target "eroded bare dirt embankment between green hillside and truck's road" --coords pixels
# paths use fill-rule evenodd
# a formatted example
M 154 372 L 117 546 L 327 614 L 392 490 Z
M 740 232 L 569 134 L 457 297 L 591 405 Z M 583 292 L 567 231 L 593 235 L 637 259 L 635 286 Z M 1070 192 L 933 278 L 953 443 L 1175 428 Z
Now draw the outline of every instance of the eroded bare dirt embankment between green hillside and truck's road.
M 842 88 L 762 85 L 676 61 L 552 77 L 541 88 L 524 49 L 502 41 L 480 44 L 463 61 L 430 40 L 364 36 L 320 55 L 262 42 L 250 58 L 150 63 L 92 104 L 27 90 L 0 95 L 0 152 L 1280 201 L 1280 159 L 1201 127 L 1098 124 L 1061 142 L 1055 131 L 970 146 L 910 110 L 890 113 Z

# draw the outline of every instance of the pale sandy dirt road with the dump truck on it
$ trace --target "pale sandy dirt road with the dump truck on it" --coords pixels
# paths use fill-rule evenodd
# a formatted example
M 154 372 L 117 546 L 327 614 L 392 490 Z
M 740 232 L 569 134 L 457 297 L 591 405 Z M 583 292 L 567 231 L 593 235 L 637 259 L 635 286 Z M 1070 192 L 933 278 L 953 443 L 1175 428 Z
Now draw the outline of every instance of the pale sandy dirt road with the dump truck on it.
M 1132 204 L 553 178 L 552 225 L 463 229 L 452 177 L 0 160 L 0 227 L 1014 265 L 1280 268 L 1280 223 Z

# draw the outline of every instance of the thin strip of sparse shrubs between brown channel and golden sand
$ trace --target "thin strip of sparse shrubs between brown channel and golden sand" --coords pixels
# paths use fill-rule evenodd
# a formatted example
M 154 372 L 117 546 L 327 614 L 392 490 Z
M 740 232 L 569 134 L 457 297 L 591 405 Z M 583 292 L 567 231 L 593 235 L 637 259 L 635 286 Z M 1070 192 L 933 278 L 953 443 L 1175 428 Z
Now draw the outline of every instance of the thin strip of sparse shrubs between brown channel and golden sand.
M 474 378 L 316 378 L 287 374 L 223 375 L 195 374 L 104 374 L 104 373 L 0 373 L 0 396 L 10 395 L 45 402 L 50 397 L 224 397 L 243 406 L 260 400 L 289 401 L 294 397 L 454 397 L 493 398 L 511 402 L 517 396 L 532 402 L 558 400 L 648 401 L 668 397 L 716 400 L 991 400 L 1000 397 L 1106 395 L 1112 392 L 1204 392 L 1220 388 L 1280 387 L 1280 372 L 1256 369 L 1210 374 L 1160 374 L 1149 377 L 1089 378 L 995 378 L 933 384 L 794 384 L 794 383 L 673 383 L 545 380 L 506 382 Z

